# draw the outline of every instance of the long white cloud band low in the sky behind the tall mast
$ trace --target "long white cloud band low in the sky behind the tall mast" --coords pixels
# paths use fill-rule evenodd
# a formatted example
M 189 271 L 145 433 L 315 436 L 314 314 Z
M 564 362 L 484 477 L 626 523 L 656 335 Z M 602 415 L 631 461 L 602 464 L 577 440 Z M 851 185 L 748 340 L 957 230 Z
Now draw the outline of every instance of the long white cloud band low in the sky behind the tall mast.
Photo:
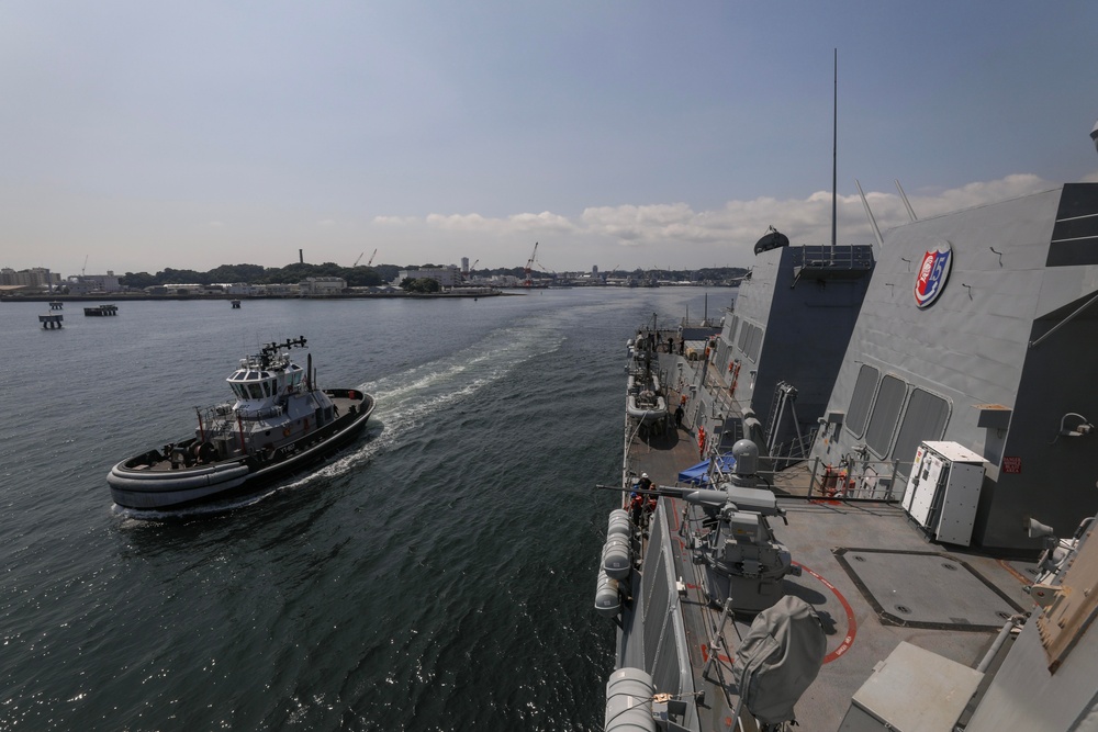
M 955 189 L 921 191 L 909 194 L 909 200 L 916 215 L 927 218 L 1052 187 L 1038 176 L 1013 174 Z M 866 199 L 882 230 L 907 223 L 907 209 L 898 193 L 871 191 Z M 841 244 L 873 241 L 873 229 L 858 195 L 840 195 L 837 210 Z M 703 262 L 749 266 L 754 243 L 770 226 L 794 244 L 829 243 L 831 193 L 817 191 L 806 199 L 729 201 L 719 209 L 703 211 L 679 202 L 591 206 L 574 218 L 549 211 L 505 217 L 434 213 L 426 217 L 377 216 L 373 223 L 402 227 L 410 244 L 432 247 L 433 254 L 424 255 L 428 259 L 448 256 L 455 247 L 471 248 L 493 258 L 520 259 L 511 248 L 518 241 L 525 247 L 527 240 L 540 239 L 562 259 L 579 258 L 580 261 L 569 262 L 573 267 L 582 264 L 583 259 L 617 258 L 612 254 L 615 247 L 635 250 L 640 261 L 673 252 L 684 266 Z

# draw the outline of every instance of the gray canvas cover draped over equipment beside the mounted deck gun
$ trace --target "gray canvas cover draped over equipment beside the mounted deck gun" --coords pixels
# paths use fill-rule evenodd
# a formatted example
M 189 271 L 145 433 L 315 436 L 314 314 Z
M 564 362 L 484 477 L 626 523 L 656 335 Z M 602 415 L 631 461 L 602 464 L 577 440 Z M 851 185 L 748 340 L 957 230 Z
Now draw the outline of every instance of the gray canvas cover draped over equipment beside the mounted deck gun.
M 793 720 L 793 706 L 816 679 L 826 653 L 824 627 L 808 603 L 787 595 L 760 612 L 732 663 L 748 711 L 764 724 Z

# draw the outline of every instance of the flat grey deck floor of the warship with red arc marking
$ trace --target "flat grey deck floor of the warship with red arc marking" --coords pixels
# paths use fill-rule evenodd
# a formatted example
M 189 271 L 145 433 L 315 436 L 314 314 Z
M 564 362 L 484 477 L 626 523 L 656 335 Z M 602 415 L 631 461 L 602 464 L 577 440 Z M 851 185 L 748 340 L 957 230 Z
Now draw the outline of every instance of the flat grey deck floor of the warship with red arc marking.
M 629 470 L 648 473 L 657 486 L 676 485 L 679 471 L 698 462 L 696 441 L 686 429 L 651 439 L 634 436 L 627 451 Z M 900 641 L 976 667 L 1007 619 L 1033 607 L 1022 589 L 1032 582 L 1032 564 L 931 543 L 897 504 L 810 499 L 809 480 L 804 466 L 775 476 L 774 492 L 788 523 L 771 520 L 777 540 L 803 568 L 802 576 L 786 577 L 785 593 L 816 608 L 828 637 L 819 676 L 796 706 L 800 729 L 837 730 L 851 697 Z M 706 692 L 697 709 L 701 729 L 729 729 L 735 683 L 729 695 L 703 679 L 702 672 L 716 647 L 719 668 L 710 665 L 707 676 L 732 679 L 737 640 L 751 618 L 737 619 L 735 629 L 729 623 L 717 637 L 720 611 L 707 603 L 703 570 L 677 534 L 684 503 L 661 502 L 653 520 L 663 521 L 664 536 L 673 539 L 674 571 L 686 588 L 677 607 L 690 665 L 696 688 Z M 653 528 L 649 536 L 657 533 Z M 619 644 L 618 666 L 643 667 L 636 655 L 640 645 Z

